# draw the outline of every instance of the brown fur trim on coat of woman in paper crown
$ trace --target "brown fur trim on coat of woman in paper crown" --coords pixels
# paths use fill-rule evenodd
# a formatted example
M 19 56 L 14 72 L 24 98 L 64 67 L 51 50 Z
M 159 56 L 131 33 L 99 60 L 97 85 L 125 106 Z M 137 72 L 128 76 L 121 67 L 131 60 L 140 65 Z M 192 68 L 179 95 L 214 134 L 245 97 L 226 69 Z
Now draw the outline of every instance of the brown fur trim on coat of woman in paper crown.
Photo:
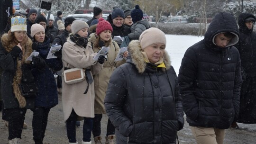
M 1 37 L 2 46 L 4 47 L 4 49 L 6 50 L 7 53 L 11 52 L 12 48 L 15 45 L 17 45 L 17 44 L 15 44 L 14 41 L 9 41 L 9 39 L 10 39 L 9 34 L 4 34 Z M 27 41 L 24 43 L 25 43 L 25 45 L 22 47 L 25 48 L 25 52 L 23 52 L 22 61 L 18 61 L 18 58 L 17 58 L 17 69 L 15 72 L 15 76 L 13 77 L 13 83 L 12 83 L 13 92 L 14 92 L 15 98 L 18 99 L 20 108 L 24 108 L 26 106 L 26 99 L 22 96 L 22 94 L 20 92 L 20 88 L 19 88 L 19 83 L 22 78 L 21 65 L 23 63 L 26 63 L 26 64 L 31 63 L 31 61 L 25 61 L 25 60 L 27 59 L 27 57 L 29 57 L 29 55 L 33 51 L 32 50 L 32 41 L 30 38 L 27 37 Z

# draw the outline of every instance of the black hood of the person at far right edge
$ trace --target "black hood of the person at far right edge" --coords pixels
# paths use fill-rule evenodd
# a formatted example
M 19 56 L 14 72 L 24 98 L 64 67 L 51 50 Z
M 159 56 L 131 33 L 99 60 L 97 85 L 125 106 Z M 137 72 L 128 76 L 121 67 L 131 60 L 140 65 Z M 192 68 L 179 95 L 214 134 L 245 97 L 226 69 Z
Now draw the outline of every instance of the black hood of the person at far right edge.
M 249 17 L 254 18 L 254 21 L 256 20 L 254 15 L 252 15 L 250 13 L 247 13 L 247 12 L 241 13 L 238 17 L 238 26 L 239 26 L 239 30 L 242 33 L 252 33 L 252 31 L 253 31 L 253 28 L 248 29 L 246 24 L 245 24 L 245 19 L 249 18 Z

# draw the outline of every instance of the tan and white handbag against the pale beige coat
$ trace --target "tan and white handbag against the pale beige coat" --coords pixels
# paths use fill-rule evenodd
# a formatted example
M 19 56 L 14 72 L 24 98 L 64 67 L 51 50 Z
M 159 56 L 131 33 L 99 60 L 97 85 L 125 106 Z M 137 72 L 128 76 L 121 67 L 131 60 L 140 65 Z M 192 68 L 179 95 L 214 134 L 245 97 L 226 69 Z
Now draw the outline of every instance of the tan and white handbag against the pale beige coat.
M 81 68 L 70 68 L 70 69 L 64 70 L 63 76 L 64 76 L 64 82 L 66 84 L 82 82 L 85 80 L 85 70 Z

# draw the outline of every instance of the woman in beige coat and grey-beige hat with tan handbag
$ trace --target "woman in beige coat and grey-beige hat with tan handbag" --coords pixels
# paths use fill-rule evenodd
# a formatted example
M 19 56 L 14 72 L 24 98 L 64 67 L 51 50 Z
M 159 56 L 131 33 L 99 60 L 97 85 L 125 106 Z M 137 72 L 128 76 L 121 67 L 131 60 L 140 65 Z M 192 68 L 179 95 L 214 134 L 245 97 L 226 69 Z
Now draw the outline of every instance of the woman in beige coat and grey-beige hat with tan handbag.
M 92 75 L 101 71 L 104 56 L 93 61 L 94 53 L 91 45 L 87 45 L 88 28 L 86 22 L 75 20 L 71 30 L 73 35 L 63 45 L 62 61 L 64 69 L 86 69 L 86 81 L 67 84 L 62 77 L 62 104 L 64 121 L 67 123 L 69 144 L 78 144 L 76 141 L 75 122 L 77 117 L 84 117 L 82 144 L 91 144 L 92 117 L 94 117 L 94 83 Z M 90 79 L 91 78 L 91 79 Z M 90 84 L 91 83 L 91 84 Z

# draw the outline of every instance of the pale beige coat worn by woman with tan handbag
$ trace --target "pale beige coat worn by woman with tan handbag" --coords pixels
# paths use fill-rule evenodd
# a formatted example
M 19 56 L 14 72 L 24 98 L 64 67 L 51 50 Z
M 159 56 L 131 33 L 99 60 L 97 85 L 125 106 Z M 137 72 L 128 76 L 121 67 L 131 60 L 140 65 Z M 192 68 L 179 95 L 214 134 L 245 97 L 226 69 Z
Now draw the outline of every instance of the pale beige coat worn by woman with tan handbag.
M 67 68 L 91 68 L 91 74 L 97 74 L 102 69 L 102 64 L 93 62 L 92 59 L 97 53 L 92 51 L 91 45 L 87 45 L 84 49 L 81 46 L 73 43 L 70 38 L 63 45 L 62 61 L 63 67 Z M 64 121 L 70 116 L 72 109 L 80 117 L 94 117 L 94 83 L 89 85 L 89 90 L 86 90 L 88 83 L 82 81 L 74 84 L 66 84 L 62 77 L 62 104 Z

